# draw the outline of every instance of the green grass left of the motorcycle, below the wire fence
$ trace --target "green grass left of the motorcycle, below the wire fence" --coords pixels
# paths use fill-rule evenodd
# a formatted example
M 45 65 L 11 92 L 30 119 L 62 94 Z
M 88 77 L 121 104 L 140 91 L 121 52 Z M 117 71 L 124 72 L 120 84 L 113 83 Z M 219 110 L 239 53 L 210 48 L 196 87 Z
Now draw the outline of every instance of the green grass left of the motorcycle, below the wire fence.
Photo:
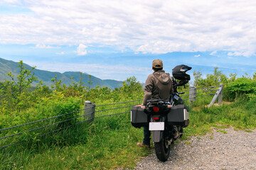
M 132 168 L 150 153 L 137 147 L 142 137 L 143 130 L 133 128 L 127 114 L 95 119 L 91 125 L 45 137 L 32 146 L 6 148 L 1 151 L 0 169 Z

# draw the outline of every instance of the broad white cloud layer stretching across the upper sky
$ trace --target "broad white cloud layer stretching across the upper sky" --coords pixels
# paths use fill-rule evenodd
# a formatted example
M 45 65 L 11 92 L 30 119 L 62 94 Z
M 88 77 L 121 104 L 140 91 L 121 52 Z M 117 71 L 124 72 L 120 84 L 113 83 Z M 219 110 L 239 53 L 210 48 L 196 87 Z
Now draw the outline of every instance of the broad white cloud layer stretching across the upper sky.
M 18 0 L 5 0 L 19 3 Z M 101 45 L 134 52 L 255 54 L 256 1 L 23 0 L 31 13 L 2 14 L 6 44 Z M 47 46 L 46 46 L 47 47 Z M 86 55 L 78 50 L 78 55 Z M 234 55 L 236 55 L 234 53 Z

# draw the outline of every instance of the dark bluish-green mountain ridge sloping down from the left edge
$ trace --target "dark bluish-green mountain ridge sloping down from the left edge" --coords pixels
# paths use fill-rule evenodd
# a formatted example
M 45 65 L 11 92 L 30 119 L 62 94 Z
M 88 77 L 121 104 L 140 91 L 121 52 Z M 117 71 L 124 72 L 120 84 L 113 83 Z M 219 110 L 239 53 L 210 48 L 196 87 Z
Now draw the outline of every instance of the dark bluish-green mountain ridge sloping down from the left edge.
M 31 66 L 28 64 L 23 63 L 26 69 L 32 69 Z M 0 81 L 4 81 L 5 79 L 10 79 L 9 77 L 6 77 L 6 74 L 11 72 L 14 74 L 14 76 L 19 74 L 20 68 L 18 67 L 18 62 L 13 62 L 11 60 L 4 60 L 0 58 Z M 46 86 L 53 85 L 53 82 L 51 79 L 55 78 L 55 75 L 57 75 L 57 79 L 61 79 L 61 81 L 69 85 L 72 83 L 72 80 L 70 79 L 73 77 L 73 81 L 77 83 L 80 81 L 80 72 L 48 72 L 45 70 L 40 69 L 34 69 L 33 70 L 34 76 L 38 78 L 38 81 L 42 80 L 43 84 Z M 82 81 L 85 82 L 86 86 L 90 86 L 91 88 L 94 88 L 95 86 L 107 86 L 110 89 L 114 89 L 115 87 L 122 86 L 122 81 L 116 81 L 112 79 L 99 79 L 97 77 L 94 77 L 91 75 L 89 78 L 89 74 L 82 73 Z M 92 84 L 88 84 L 89 81 L 92 81 Z M 36 85 L 36 84 L 34 84 Z

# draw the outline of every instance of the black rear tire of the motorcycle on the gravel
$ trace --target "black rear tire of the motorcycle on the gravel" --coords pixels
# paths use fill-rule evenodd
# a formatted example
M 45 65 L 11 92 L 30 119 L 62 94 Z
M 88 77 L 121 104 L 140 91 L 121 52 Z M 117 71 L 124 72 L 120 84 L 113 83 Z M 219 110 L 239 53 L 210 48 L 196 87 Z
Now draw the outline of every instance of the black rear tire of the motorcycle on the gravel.
M 170 145 L 166 141 L 166 137 L 163 137 L 160 142 L 154 143 L 156 150 L 156 157 L 161 162 L 166 162 L 170 155 Z

